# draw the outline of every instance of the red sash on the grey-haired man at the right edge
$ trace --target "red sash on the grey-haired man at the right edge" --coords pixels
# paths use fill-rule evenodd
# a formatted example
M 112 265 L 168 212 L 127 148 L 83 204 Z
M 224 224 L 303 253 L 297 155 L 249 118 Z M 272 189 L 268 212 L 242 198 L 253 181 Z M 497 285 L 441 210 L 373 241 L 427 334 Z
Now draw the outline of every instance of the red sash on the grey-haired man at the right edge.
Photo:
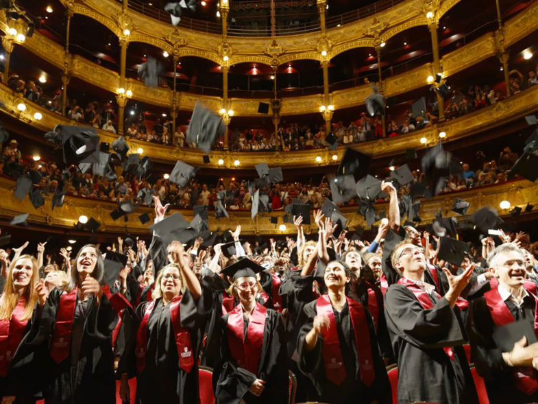
M 526 284 L 524 285 L 524 287 L 525 289 L 529 287 L 530 289 L 536 290 L 536 286 L 534 284 Z M 538 335 L 538 300 L 532 292 L 530 292 L 530 294 L 536 300 L 534 329 L 535 334 Z M 506 306 L 504 300 L 502 300 L 499 293 L 499 289 L 497 287 L 495 289 L 491 289 L 485 292 L 484 298 L 486 300 L 486 305 L 489 309 L 489 313 L 491 314 L 491 319 L 493 320 L 493 324 L 495 324 L 495 326 L 504 326 L 506 324 L 511 324 L 515 321 L 515 318 L 512 316 L 510 309 L 508 308 L 508 306 Z M 535 370 L 533 368 L 514 368 L 513 377 L 517 390 L 524 392 L 528 396 L 538 390 L 538 380 L 535 377 Z

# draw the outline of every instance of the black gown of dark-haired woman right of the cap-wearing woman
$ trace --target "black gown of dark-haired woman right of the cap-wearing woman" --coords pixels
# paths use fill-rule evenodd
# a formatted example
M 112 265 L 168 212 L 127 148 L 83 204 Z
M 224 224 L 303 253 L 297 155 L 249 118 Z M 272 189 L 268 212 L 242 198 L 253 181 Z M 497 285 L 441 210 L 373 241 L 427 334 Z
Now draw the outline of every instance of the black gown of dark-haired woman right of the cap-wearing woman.
M 366 311 L 368 329 L 370 332 L 371 354 L 374 359 L 374 372 L 376 378 L 371 386 L 365 385 L 360 379 L 358 353 L 356 340 L 351 322 L 350 309 L 347 305 L 342 311 L 332 308 L 334 320 L 337 324 L 338 339 L 345 367 L 345 380 L 337 385 L 328 380 L 323 362 L 323 336 L 317 337 L 313 350 L 304 350 L 306 334 L 313 329 L 314 318 L 317 315 L 317 302 L 313 301 L 304 307 L 306 322 L 299 331 L 297 351 L 299 355 L 299 369 L 313 382 L 318 393 L 317 400 L 330 404 L 367 404 L 373 400 L 378 403 L 391 403 L 391 385 L 387 377 L 387 369 L 379 354 L 374 322 Z

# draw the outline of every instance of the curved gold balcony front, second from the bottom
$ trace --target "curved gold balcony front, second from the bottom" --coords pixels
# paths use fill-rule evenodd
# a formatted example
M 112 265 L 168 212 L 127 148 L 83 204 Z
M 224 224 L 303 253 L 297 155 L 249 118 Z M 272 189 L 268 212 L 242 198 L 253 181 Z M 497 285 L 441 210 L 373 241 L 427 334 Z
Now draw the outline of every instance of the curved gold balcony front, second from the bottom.
M 3 107 L 0 110 L 17 117 L 21 121 L 25 121 L 30 125 L 47 132 L 56 124 L 73 125 L 74 121 L 69 120 L 63 115 L 58 115 L 45 108 L 38 106 L 27 99 L 23 99 L 20 95 L 15 94 L 10 88 L 4 84 L 0 84 L 0 99 L 4 100 Z M 16 106 L 20 102 L 24 102 L 27 109 L 24 112 L 17 110 Z M 512 97 L 502 100 L 496 104 L 482 108 L 476 112 L 445 121 L 439 125 L 431 126 L 423 130 L 417 130 L 408 134 L 401 134 L 389 139 L 380 139 L 367 143 L 359 143 L 352 145 L 356 150 L 372 154 L 375 158 L 401 154 L 409 147 L 422 149 L 430 147 L 433 143 L 439 140 L 439 132 L 445 132 L 446 141 L 455 141 L 463 139 L 466 136 L 474 136 L 476 133 L 484 130 L 496 128 L 504 125 L 514 119 L 518 119 L 535 112 L 538 109 L 538 86 L 527 88 L 521 93 L 517 93 Z M 40 112 L 42 119 L 36 121 L 34 113 Z M 111 143 L 117 139 L 117 134 L 112 134 L 103 130 L 98 130 L 101 141 Z M 421 138 L 426 138 L 427 143 L 420 143 Z M 143 141 L 129 140 L 131 150 L 137 150 L 138 147 L 143 149 L 143 154 L 148 155 L 154 161 L 173 164 L 181 156 L 181 159 L 188 164 L 201 166 L 203 152 L 195 149 L 180 149 L 179 147 L 164 146 L 156 143 Z M 233 153 L 233 152 L 211 152 L 210 163 L 204 165 L 207 168 L 228 168 L 228 169 L 252 169 L 260 161 L 267 161 L 272 166 L 282 166 L 286 168 L 295 167 L 311 167 L 313 165 L 331 165 L 335 164 L 332 160 L 332 155 L 338 156 L 337 161 L 343 155 L 345 147 L 341 146 L 334 152 L 329 152 L 326 149 L 317 150 L 300 150 L 297 152 L 253 152 L 253 153 Z M 316 157 L 321 157 L 321 162 L 316 163 Z M 223 165 L 219 165 L 218 161 L 222 159 Z M 234 165 L 234 161 L 239 160 L 239 166 Z

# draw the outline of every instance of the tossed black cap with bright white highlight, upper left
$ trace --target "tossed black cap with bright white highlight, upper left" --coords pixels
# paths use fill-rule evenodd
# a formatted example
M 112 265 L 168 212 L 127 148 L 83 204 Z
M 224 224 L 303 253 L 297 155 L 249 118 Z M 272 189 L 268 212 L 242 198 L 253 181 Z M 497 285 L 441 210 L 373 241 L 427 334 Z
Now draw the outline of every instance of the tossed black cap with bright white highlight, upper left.
M 61 126 L 64 163 L 99 162 L 99 135 L 88 126 Z

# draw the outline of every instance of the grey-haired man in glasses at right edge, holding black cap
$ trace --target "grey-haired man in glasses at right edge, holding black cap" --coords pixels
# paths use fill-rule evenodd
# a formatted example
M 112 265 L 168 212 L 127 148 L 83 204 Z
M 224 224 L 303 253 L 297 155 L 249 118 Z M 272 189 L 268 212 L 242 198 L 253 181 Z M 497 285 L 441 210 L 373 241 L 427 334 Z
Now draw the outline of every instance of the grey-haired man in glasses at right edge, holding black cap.
M 524 255 L 512 243 L 493 250 L 488 266 L 498 287 L 472 301 L 472 361 L 485 379 L 491 404 L 537 401 L 535 284 L 526 281 Z

